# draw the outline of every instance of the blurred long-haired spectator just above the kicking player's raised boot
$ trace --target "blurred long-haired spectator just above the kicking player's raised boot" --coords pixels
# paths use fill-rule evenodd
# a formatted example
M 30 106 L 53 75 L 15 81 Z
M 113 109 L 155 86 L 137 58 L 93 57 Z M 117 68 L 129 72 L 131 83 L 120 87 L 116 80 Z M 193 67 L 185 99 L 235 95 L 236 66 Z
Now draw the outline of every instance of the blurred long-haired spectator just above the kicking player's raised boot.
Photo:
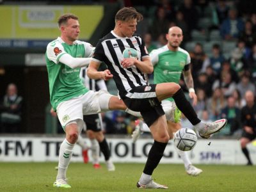
M 209 110 L 210 118 L 213 120 L 218 119 L 221 109 L 225 108 L 226 99 L 223 95 L 221 88 L 215 88 L 212 97 L 207 100 L 207 109 Z

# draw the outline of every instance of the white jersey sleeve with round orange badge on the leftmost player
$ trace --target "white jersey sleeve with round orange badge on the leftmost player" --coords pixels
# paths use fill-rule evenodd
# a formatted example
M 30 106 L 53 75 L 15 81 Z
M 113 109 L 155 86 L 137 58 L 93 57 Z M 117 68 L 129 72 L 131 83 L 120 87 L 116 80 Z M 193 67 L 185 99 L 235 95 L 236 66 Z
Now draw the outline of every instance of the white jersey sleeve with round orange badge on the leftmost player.
M 67 54 L 67 52 L 65 52 L 64 47 L 59 42 L 51 42 L 47 45 L 46 54 L 49 60 L 58 64 L 61 56 Z

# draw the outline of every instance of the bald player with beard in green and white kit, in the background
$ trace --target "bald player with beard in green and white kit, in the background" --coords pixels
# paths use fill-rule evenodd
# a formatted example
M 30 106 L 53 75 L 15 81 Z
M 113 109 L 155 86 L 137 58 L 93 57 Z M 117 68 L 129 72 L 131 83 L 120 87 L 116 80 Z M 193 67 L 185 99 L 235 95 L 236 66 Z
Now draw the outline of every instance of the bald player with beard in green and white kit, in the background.
M 183 35 L 182 29 L 179 27 L 172 27 L 166 34 L 168 44 L 156 49 L 150 53 L 150 59 L 154 65 L 154 83 L 179 83 L 180 76 L 183 74 L 186 85 L 189 89 L 189 97 L 193 99 L 193 104 L 197 102 L 197 97 L 194 90 L 193 77 L 189 68 L 190 56 L 187 51 L 180 48 L 179 45 L 182 42 Z M 176 108 L 175 102 L 172 97 L 162 100 L 162 106 L 166 114 L 166 120 L 168 122 L 168 129 L 170 139 L 173 138 L 173 132 L 180 129 L 179 124 L 180 111 Z M 173 124 L 174 122 L 175 124 Z M 135 142 L 138 140 L 141 131 L 150 131 L 147 124 L 144 124 L 141 120 L 136 121 L 136 129 L 132 133 L 132 140 Z M 189 175 L 197 176 L 202 173 L 202 170 L 196 168 L 189 161 L 188 152 L 184 152 L 175 147 L 179 156 L 184 161 L 186 172 Z

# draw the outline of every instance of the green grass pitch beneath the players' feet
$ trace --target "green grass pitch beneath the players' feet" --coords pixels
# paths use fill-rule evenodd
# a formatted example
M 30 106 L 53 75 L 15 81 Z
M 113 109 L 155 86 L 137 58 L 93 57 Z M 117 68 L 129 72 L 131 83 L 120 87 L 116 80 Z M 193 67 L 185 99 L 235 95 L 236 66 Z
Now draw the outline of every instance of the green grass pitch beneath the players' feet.
M 71 189 L 56 189 L 52 184 L 57 163 L 0 163 L 0 191 L 140 191 L 136 188 L 144 164 L 115 164 L 94 170 L 92 164 L 70 163 L 67 177 Z M 198 165 L 198 177 L 186 175 L 182 164 L 159 164 L 153 177 L 166 184 L 164 191 L 256 191 L 256 166 Z M 148 189 L 147 191 L 153 191 Z M 157 189 L 157 191 L 162 191 Z M 155 191 L 155 190 L 154 190 Z

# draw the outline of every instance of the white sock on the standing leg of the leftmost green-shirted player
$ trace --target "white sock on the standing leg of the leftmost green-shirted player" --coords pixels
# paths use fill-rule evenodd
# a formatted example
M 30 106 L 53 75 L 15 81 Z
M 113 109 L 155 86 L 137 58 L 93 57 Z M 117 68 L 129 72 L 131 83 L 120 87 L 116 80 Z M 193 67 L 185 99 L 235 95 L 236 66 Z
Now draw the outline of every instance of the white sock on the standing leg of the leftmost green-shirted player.
M 72 150 L 74 146 L 75 146 L 74 144 L 68 143 L 66 139 L 61 143 L 57 179 L 67 178 L 66 172 L 67 172 L 68 164 L 72 157 Z

